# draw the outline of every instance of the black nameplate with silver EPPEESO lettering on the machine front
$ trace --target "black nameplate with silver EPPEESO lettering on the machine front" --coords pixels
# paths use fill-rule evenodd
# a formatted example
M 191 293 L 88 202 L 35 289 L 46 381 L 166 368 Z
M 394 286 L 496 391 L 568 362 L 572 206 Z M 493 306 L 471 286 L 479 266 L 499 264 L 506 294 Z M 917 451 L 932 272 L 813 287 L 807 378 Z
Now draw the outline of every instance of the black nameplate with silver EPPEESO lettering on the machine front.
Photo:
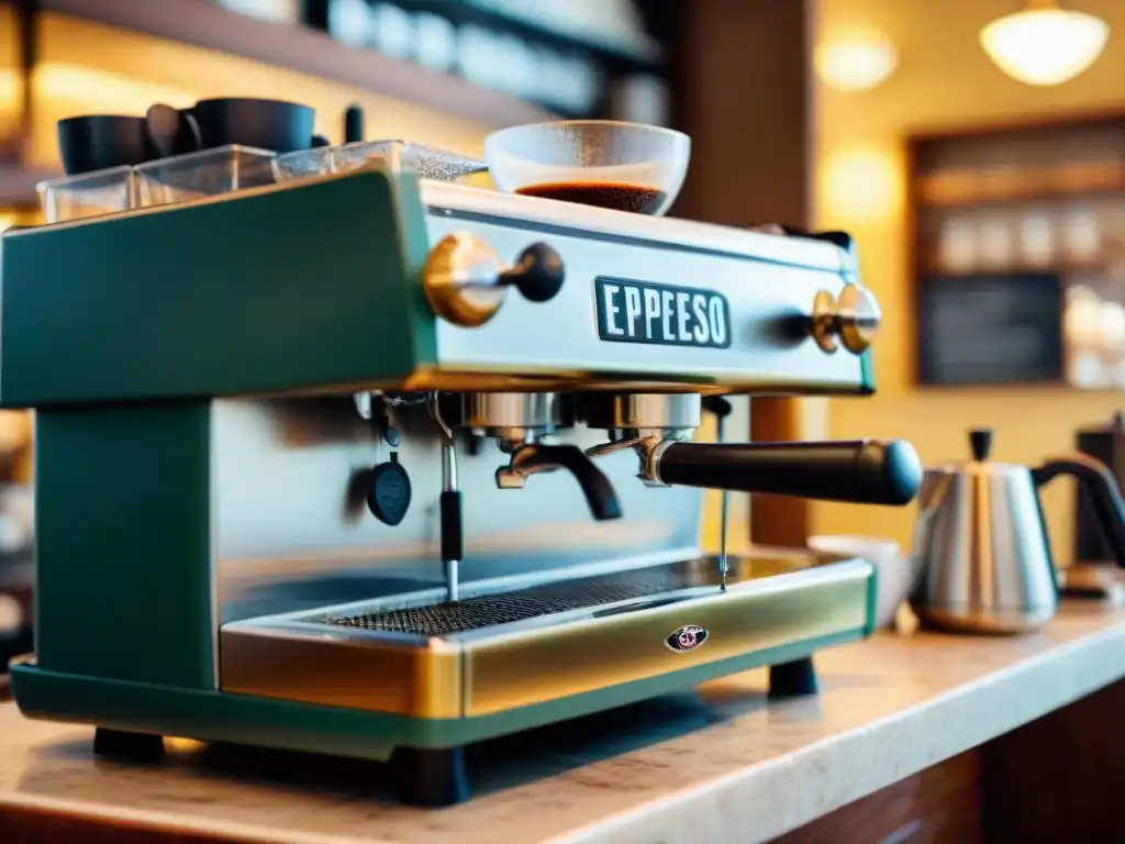
M 712 290 L 595 278 L 597 334 L 615 343 L 658 343 L 726 349 L 730 308 Z

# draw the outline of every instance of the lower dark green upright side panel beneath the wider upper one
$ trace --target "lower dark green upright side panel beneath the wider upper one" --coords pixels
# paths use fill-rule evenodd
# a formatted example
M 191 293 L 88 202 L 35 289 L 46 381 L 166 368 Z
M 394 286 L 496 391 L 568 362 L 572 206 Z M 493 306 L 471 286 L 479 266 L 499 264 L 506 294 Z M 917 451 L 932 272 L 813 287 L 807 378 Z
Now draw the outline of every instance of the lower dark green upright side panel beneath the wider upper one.
M 215 688 L 206 402 L 36 419 L 38 664 Z

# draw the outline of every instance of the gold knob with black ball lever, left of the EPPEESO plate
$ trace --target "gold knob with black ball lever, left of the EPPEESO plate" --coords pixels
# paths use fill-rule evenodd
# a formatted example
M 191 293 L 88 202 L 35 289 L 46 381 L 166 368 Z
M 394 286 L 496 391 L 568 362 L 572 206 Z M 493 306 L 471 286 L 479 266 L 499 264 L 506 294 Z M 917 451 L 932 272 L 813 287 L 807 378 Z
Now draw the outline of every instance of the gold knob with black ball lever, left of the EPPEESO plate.
M 465 327 L 484 325 L 504 304 L 508 287 L 529 302 L 549 302 L 562 289 L 562 259 L 546 243 L 532 243 L 504 268 L 485 241 L 459 232 L 442 237 L 422 268 L 422 288 L 433 312 Z

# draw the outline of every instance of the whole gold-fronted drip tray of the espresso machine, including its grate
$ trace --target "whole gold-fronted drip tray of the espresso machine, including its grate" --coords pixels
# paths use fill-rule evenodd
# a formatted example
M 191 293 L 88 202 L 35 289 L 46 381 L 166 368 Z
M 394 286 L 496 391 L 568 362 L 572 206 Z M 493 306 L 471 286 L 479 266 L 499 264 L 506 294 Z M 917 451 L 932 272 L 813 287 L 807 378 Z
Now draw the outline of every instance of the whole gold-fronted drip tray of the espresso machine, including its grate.
M 416 719 L 475 718 L 641 681 L 637 689 L 657 694 L 870 628 L 867 563 L 730 563 L 726 591 L 718 562 L 702 558 L 489 594 L 477 584 L 457 603 L 428 590 L 233 622 L 219 631 L 219 683 Z M 677 646 L 684 627 L 704 634 L 698 646 Z

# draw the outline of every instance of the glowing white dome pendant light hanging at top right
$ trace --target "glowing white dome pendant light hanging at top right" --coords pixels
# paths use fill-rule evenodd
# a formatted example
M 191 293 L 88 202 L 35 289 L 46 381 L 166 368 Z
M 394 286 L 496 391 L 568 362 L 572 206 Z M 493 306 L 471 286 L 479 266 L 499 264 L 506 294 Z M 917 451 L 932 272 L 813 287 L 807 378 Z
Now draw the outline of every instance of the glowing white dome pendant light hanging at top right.
M 981 46 L 1005 73 L 1032 86 L 1068 82 L 1101 55 L 1109 26 L 1101 18 L 1035 0 L 1025 11 L 981 29 Z

